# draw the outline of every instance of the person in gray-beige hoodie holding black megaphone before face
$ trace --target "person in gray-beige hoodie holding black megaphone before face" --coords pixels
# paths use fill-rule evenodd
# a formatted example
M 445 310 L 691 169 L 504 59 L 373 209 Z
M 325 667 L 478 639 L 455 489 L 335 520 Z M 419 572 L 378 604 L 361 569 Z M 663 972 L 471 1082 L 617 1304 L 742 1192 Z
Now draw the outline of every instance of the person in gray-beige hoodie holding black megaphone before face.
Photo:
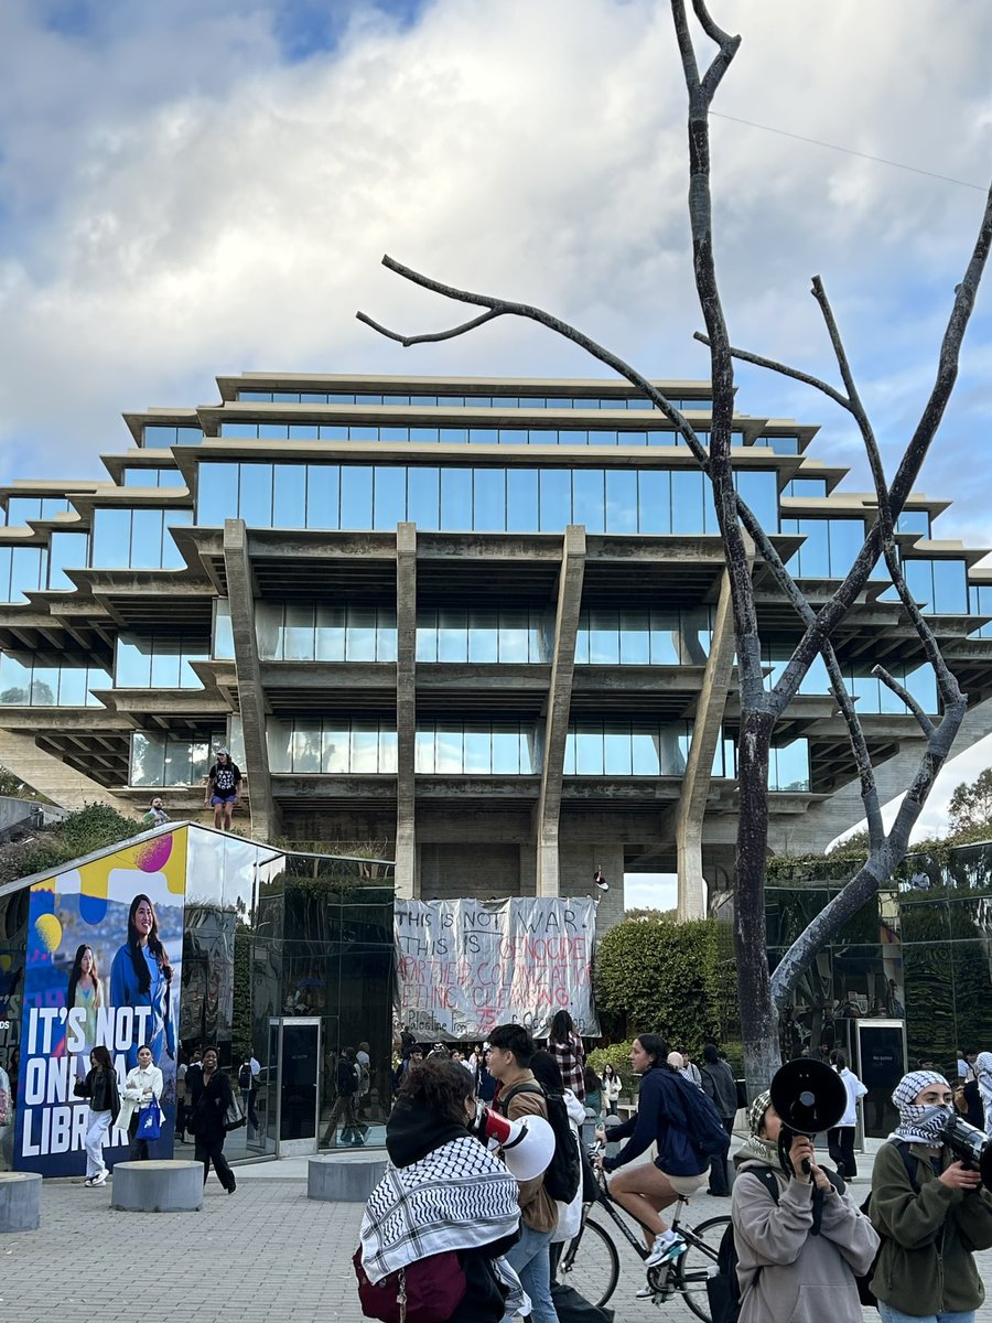
M 782 1121 L 768 1093 L 754 1099 L 749 1122 L 750 1138 L 734 1155 L 730 1211 L 739 1323 L 862 1323 L 854 1277 L 874 1261 L 874 1228 L 852 1196 L 831 1184 L 808 1136 L 792 1136 L 779 1156 Z M 763 1168 L 774 1174 L 778 1201 L 757 1175 Z

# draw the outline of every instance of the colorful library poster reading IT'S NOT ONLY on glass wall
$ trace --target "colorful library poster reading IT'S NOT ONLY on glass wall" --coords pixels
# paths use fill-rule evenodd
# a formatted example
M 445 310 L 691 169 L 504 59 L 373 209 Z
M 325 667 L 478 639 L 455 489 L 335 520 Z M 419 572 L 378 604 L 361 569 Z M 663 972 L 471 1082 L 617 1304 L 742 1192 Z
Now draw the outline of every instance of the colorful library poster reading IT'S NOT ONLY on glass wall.
M 98 1045 L 122 1090 L 151 1046 L 165 1113 L 152 1156 L 172 1156 L 185 873 L 179 828 L 30 888 L 15 1170 L 83 1175 L 89 1105 L 74 1086 Z M 111 1127 L 104 1160 L 126 1156 L 127 1135 Z

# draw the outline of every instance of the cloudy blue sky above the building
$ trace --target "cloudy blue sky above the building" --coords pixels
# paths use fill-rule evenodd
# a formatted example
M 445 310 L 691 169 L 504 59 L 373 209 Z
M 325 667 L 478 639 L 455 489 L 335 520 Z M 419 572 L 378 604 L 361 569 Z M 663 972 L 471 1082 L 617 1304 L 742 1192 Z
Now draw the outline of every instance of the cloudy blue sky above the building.
M 992 176 L 992 7 L 713 13 L 743 37 L 712 126 L 731 339 L 836 380 L 820 274 L 891 472 Z M 529 323 L 377 336 L 357 310 L 409 332 L 463 320 L 384 253 L 540 304 L 649 376 L 704 378 L 685 189 L 656 0 L 4 0 L 0 482 L 103 476 L 122 411 L 216 402 L 218 373 L 599 374 Z M 989 366 L 987 286 L 919 483 L 970 546 L 992 544 Z M 866 488 L 829 401 L 737 380 L 743 411 L 820 423 L 811 452 Z M 992 749 L 976 758 L 968 775 Z

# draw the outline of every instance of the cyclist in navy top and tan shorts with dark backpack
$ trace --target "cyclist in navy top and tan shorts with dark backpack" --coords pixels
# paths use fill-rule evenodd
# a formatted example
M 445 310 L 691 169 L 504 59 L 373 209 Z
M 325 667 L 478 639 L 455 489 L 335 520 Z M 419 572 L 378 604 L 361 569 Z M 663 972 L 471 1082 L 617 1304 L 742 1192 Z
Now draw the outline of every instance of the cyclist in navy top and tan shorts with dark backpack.
M 610 1131 L 610 1139 L 627 1139 L 615 1158 L 603 1158 L 603 1171 L 624 1167 L 657 1143 L 653 1163 L 641 1163 L 610 1181 L 610 1193 L 644 1228 L 648 1267 L 668 1263 L 685 1253 L 685 1241 L 659 1217 L 663 1208 L 701 1189 L 709 1176 L 709 1158 L 693 1142 L 682 1093 L 668 1065 L 668 1044 L 657 1033 L 641 1033 L 631 1048 L 631 1066 L 641 1077 L 638 1111 Z M 600 1131 L 600 1139 L 606 1134 Z M 643 1287 L 638 1297 L 653 1294 Z

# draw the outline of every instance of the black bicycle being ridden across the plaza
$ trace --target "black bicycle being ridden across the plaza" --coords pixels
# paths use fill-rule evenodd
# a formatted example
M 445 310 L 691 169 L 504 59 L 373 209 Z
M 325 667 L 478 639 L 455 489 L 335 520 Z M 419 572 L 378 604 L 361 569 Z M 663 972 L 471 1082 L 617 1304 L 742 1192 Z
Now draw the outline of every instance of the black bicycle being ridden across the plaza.
M 600 1146 L 597 1144 L 590 1151 L 598 1154 Z M 685 1196 L 679 1196 L 673 1205 L 671 1222 L 672 1230 L 679 1232 L 688 1248 L 672 1262 L 649 1267 L 647 1270 L 648 1286 L 653 1289 L 651 1298 L 655 1304 L 661 1304 L 679 1293 L 692 1312 L 702 1319 L 702 1323 L 712 1323 L 706 1279 L 716 1271 L 720 1242 L 730 1225 L 730 1218 L 709 1217 L 698 1226 L 686 1226 L 680 1221 L 680 1215 L 688 1201 Z M 595 1197 L 583 1207 L 578 1234 L 562 1250 L 557 1277 L 558 1281 L 567 1281 L 587 1301 L 602 1307 L 608 1302 L 620 1279 L 620 1256 L 606 1226 L 590 1217 L 598 1205 L 602 1205 L 607 1217 L 611 1218 L 641 1262 L 647 1259 L 649 1252 L 643 1240 L 630 1229 L 616 1211 L 619 1205 L 610 1193 L 602 1170 L 598 1171 Z

